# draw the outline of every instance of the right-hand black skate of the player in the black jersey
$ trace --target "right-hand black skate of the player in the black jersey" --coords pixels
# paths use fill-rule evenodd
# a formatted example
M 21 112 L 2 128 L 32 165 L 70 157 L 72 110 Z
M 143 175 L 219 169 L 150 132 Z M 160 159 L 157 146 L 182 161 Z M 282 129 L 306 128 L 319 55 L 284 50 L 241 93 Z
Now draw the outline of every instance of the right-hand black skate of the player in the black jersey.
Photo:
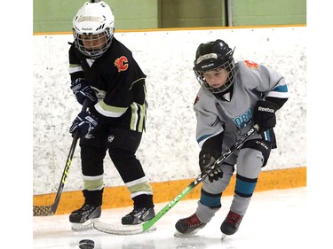
M 122 218 L 123 225 L 137 225 L 142 222 L 147 222 L 155 216 L 153 207 L 135 207 L 130 214 L 126 214 Z

